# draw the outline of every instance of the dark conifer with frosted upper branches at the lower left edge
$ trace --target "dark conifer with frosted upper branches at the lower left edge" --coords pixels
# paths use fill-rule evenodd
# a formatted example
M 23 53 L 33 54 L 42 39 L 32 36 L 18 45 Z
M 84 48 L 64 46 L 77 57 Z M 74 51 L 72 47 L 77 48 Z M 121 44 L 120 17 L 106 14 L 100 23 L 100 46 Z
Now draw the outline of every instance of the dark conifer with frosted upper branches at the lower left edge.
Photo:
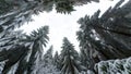
M 7 74 L 13 64 L 19 60 L 21 61 L 24 57 L 27 48 L 19 41 L 23 36 L 24 34 L 22 34 L 22 32 L 13 32 L 5 34 L 4 37 L 0 39 L 0 62 L 4 63 L 2 74 Z

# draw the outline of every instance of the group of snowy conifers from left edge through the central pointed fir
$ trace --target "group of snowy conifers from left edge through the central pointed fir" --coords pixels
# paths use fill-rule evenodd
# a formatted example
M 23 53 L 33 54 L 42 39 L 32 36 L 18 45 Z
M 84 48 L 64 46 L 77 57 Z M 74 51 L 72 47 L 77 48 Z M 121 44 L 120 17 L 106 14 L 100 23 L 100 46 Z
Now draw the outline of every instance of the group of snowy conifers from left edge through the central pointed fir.
M 5 34 L 0 39 L 2 74 L 78 74 L 85 71 L 73 45 L 63 39 L 62 51 L 52 55 L 52 46 L 43 55 L 48 42 L 48 26 L 32 32 L 21 30 Z

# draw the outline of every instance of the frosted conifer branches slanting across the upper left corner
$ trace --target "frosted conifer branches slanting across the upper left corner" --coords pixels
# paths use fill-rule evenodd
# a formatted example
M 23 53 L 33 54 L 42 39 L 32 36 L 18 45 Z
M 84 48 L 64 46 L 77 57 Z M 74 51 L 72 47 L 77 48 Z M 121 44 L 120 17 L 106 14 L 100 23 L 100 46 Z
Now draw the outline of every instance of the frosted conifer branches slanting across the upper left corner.
M 0 1 L 0 33 L 11 32 L 25 22 L 32 21 L 33 14 L 51 11 L 53 0 L 1 0 Z

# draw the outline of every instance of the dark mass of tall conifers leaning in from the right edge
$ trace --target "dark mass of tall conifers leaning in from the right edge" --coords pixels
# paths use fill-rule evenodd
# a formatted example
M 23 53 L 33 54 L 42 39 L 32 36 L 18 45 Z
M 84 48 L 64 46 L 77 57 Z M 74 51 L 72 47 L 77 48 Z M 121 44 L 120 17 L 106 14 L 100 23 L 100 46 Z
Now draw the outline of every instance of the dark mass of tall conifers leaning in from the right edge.
M 85 15 L 79 20 L 81 26 L 76 35 L 82 60 L 87 61 L 88 70 L 94 71 L 95 63 L 99 61 L 131 55 L 131 1 L 121 5 L 122 2 L 120 0 L 102 16 L 98 10 L 93 16 Z

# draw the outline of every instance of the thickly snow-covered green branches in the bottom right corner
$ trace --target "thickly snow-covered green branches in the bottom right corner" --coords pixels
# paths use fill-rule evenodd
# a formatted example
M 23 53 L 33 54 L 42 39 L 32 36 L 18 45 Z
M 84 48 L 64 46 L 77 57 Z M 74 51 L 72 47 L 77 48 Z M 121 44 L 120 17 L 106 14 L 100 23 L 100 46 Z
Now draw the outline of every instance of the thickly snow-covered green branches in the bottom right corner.
M 100 61 L 95 70 L 98 74 L 131 74 L 131 58 Z

